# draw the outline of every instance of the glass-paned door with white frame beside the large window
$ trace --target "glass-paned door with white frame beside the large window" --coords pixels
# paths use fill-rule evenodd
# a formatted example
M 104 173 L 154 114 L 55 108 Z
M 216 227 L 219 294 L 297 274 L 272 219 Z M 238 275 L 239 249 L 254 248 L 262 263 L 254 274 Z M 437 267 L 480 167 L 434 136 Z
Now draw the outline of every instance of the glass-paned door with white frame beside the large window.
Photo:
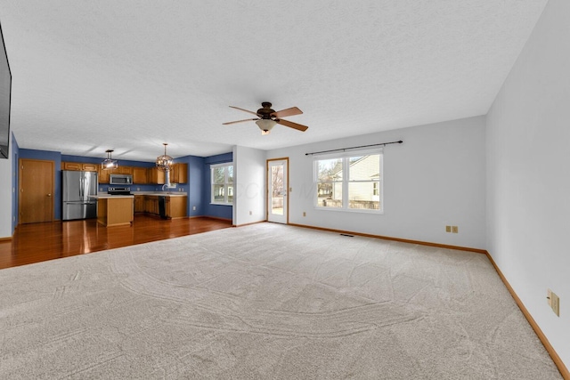
M 289 222 L 289 159 L 267 160 L 267 221 Z

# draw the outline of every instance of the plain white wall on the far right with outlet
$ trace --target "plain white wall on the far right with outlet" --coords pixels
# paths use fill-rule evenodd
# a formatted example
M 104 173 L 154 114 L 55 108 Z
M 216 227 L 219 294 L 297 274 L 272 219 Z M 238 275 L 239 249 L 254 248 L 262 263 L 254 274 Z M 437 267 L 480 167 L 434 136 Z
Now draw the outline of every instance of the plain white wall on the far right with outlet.
M 487 115 L 487 249 L 570 368 L 570 2 L 550 0 Z M 560 317 L 547 288 L 560 296 Z

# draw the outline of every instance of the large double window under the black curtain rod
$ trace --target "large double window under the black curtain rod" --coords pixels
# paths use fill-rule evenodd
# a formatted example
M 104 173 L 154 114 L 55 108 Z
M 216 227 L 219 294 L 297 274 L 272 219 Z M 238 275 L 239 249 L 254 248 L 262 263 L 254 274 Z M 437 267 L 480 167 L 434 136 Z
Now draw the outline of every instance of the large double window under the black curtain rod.
M 382 212 L 382 151 L 315 158 L 315 206 Z

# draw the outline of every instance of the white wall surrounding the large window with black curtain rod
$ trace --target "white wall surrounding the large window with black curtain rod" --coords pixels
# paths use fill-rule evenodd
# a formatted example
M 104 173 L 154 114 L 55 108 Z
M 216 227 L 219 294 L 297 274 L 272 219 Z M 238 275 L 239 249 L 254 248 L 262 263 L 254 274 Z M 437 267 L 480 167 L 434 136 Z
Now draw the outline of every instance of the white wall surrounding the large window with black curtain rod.
M 403 144 L 384 149 L 384 214 L 314 208 L 314 157 L 305 153 L 398 140 Z M 289 157 L 291 223 L 485 249 L 485 117 L 270 150 L 267 155 L 283 157 Z M 459 226 L 459 233 L 445 232 L 445 225 Z

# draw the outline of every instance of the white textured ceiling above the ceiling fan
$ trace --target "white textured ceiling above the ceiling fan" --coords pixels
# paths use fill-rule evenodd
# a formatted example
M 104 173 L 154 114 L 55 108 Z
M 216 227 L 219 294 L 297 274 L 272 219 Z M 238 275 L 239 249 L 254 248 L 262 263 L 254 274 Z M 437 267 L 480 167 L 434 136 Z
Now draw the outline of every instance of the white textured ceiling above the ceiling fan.
M 484 115 L 547 0 L 0 0 L 21 148 L 152 161 Z M 262 136 L 256 110 L 297 106 Z

